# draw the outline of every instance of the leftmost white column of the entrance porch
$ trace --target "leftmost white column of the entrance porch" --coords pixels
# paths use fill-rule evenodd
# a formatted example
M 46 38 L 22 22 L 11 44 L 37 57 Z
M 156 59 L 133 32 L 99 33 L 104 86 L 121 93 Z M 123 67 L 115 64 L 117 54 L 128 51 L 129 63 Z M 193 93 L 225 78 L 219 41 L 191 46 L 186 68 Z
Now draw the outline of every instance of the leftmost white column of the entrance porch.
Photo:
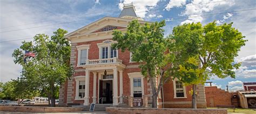
M 84 105 L 89 105 L 89 80 L 90 80 L 90 71 L 85 70 L 85 93 L 84 93 Z

